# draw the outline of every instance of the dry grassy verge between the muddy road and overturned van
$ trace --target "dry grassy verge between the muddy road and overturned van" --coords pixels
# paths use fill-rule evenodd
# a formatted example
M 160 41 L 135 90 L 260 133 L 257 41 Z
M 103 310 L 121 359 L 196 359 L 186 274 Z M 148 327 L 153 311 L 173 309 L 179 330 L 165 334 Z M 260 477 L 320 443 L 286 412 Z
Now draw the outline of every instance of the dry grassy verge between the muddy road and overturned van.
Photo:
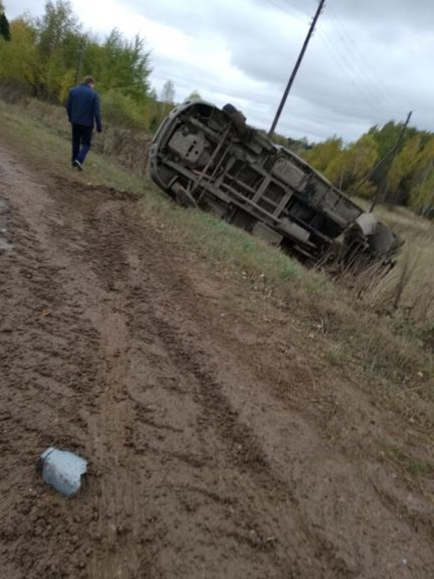
M 58 107 L 31 102 L 23 109 L 0 101 L 0 115 L 6 142 L 21 150 L 31 165 L 43 165 L 50 173 L 68 179 L 140 196 L 143 219 L 158 223 L 170 243 L 194 253 L 214 268 L 232 272 L 246 290 L 256 288 L 263 292 L 264 299 L 273 299 L 278 306 L 298 316 L 307 331 L 314 329 L 323 340 L 324 356 L 330 364 L 341 366 L 346 372 L 348 368 L 357 374 L 367 372 L 378 383 L 386 403 L 399 410 L 412 425 L 419 425 L 431 441 L 433 354 L 421 341 L 423 331 L 429 337 L 434 324 L 430 302 L 434 233 L 430 223 L 402 209 L 392 213 L 380 209 L 383 221 L 405 237 L 405 251 L 389 276 L 370 284 L 355 299 L 359 289 L 344 289 L 323 273 L 306 271 L 280 251 L 223 221 L 177 207 L 147 177 L 138 177 L 116 164 L 115 157 L 93 152 L 86 173 L 72 175 L 68 163 L 68 125 Z M 95 139 L 95 149 L 100 138 Z M 134 139 L 135 154 L 140 155 L 138 138 Z M 102 147 L 101 141 L 99 148 L 110 150 L 109 146 Z M 116 147 L 111 150 L 115 153 Z M 147 142 L 143 140 L 144 160 L 146 154 Z M 122 162 L 129 164 L 125 155 Z M 139 169 L 143 173 L 141 164 Z

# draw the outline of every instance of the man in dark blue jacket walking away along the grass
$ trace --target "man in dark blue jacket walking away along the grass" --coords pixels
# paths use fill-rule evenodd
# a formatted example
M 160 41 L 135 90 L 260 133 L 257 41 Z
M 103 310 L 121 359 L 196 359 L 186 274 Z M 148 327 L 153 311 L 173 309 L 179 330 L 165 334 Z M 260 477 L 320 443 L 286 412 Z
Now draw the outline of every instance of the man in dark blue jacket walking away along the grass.
M 97 125 L 97 132 L 102 132 L 99 96 L 93 77 L 85 77 L 81 85 L 70 90 L 66 109 L 72 125 L 72 166 L 83 170 L 94 124 Z

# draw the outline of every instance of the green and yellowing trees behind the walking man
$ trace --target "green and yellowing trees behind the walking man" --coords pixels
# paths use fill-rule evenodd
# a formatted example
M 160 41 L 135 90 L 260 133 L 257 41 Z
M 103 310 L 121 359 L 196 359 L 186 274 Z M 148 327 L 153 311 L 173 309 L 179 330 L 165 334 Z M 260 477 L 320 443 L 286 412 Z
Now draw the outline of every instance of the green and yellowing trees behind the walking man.
M 8 22 L 0 0 L 0 24 Z M 150 51 L 136 35 L 113 29 L 104 40 L 83 26 L 66 0 L 49 0 L 41 17 L 8 23 L 0 35 L 0 81 L 31 95 L 64 103 L 70 88 L 91 74 L 97 79 L 104 117 L 123 125 L 153 129 L 172 102 L 161 102 L 150 86 Z M 168 97 L 172 97 L 173 90 Z

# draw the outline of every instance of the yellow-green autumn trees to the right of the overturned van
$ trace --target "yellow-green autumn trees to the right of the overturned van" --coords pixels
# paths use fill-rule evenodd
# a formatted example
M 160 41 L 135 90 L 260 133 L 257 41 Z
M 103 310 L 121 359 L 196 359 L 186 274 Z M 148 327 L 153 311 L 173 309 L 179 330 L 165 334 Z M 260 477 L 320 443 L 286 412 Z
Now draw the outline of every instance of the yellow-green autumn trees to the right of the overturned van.
M 434 134 L 389 121 L 371 127 L 355 143 L 329 138 L 302 156 L 349 195 L 405 205 L 419 214 L 434 208 Z

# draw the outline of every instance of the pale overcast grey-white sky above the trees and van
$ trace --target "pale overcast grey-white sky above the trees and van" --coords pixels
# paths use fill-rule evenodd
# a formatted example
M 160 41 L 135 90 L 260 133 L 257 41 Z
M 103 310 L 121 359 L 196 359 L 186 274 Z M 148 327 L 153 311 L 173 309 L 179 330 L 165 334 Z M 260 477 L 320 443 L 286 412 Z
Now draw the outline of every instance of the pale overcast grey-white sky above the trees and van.
M 3 0 L 13 19 L 42 0 Z M 172 80 L 268 129 L 317 0 L 72 0 L 85 29 L 139 33 L 152 51 L 152 86 Z M 434 131 L 433 0 L 326 0 L 277 132 L 354 141 L 372 125 L 404 120 Z

